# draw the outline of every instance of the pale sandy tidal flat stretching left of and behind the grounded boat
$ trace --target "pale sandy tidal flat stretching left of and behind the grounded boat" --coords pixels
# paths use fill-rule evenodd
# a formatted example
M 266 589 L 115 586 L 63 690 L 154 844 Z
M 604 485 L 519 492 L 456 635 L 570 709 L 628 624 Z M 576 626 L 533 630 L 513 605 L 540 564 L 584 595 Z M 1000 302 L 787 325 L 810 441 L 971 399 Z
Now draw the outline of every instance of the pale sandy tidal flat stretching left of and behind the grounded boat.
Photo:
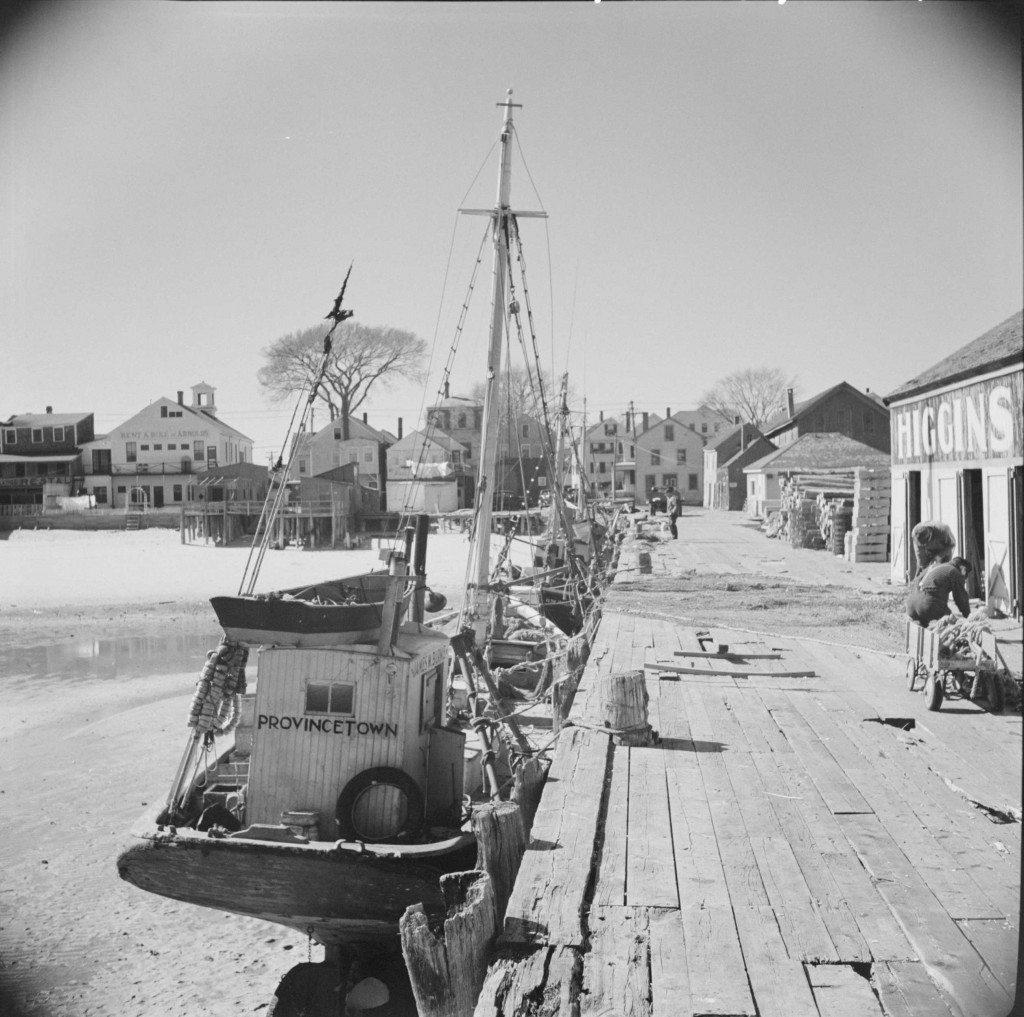
M 428 550 L 428 581 L 450 601 L 467 551 L 458 535 Z M 247 557 L 163 529 L 0 541 L 5 1017 L 259 1013 L 307 959 L 304 936 L 144 894 L 115 867 L 184 747 L 196 680 L 219 638 L 208 598 L 238 590 Z M 257 590 L 379 564 L 377 549 L 271 551 Z

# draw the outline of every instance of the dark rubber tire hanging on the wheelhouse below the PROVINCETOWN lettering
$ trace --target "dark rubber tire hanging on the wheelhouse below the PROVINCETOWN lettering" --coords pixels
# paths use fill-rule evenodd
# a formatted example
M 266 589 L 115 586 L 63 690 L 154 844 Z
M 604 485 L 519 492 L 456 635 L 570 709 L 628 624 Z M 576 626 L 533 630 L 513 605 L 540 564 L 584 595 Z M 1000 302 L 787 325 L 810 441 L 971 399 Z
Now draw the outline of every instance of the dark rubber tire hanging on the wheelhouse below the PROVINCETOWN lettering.
M 348 841 L 394 841 L 423 825 L 420 786 L 394 766 L 372 766 L 357 773 L 338 796 L 338 834 Z

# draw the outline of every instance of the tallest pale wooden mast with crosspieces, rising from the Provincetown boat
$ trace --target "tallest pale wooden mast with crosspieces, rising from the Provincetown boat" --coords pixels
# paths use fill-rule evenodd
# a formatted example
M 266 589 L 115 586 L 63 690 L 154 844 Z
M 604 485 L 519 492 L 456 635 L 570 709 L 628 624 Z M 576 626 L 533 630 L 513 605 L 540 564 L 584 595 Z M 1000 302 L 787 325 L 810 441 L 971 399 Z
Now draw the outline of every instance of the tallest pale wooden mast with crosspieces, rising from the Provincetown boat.
M 471 552 L 471 592 L 474 604 L 473 628 L 482 641 L 490 613 L 487 585 L 490 581 L 490 517 L 495 494 L 495 470 L 498 464 L 499 387 L 504 348 L 506 311 L 506 270 L 509 251 L 509 218 L 512 211 L 512 89 L 504 102 L 501 136 L 501 162 L 498 173 L 498 201 L 490 214 L 495 248 L 494 283 L 490 295 L 490 331 L 487 343 L 487 365 L 483 389 L 483 430 L 480 439 L 480 470 L 476 482 L 476 539 Z M 467 591 L 469 593 L 470 591 Z

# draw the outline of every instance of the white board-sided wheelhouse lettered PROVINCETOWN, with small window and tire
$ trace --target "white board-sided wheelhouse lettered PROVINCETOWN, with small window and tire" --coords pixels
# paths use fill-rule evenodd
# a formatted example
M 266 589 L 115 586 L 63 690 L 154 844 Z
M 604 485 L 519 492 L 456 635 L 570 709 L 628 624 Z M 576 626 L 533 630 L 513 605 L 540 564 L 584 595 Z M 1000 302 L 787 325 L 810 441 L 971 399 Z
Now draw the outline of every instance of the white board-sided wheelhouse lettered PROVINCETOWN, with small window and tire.
M 447 647 L 411 623 L 389 653 L 260 649 L 246 822 L 314 813 L 316 839 L 371 842 L 400 841 L 422 820 L 457 827 L 465 735 L 444 726 Z

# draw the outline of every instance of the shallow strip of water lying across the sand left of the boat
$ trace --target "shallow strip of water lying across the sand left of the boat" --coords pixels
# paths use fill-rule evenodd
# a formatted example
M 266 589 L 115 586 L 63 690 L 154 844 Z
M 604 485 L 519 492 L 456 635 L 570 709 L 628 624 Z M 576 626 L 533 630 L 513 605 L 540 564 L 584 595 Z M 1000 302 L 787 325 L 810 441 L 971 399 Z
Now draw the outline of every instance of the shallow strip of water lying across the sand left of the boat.
M 57 643 L 0 647 L 0 681 L 11 691 L 46 679 L 61 683 L 109 681 L 203 669 L 206 654 L 221 633 L 169 636 L 122 636 L 96 639 L 73 636 Z

